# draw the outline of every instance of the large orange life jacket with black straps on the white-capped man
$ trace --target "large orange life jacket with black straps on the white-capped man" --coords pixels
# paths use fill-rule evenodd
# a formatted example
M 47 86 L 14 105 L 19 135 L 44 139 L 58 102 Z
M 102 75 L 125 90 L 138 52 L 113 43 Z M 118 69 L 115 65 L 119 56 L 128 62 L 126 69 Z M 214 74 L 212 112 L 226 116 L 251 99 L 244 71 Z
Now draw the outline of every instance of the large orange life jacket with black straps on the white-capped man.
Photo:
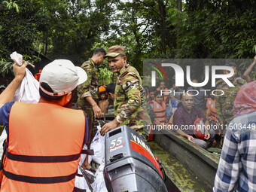
M 84 134 L 83 111 L 15 102 L 1 191 L 73 191 Z

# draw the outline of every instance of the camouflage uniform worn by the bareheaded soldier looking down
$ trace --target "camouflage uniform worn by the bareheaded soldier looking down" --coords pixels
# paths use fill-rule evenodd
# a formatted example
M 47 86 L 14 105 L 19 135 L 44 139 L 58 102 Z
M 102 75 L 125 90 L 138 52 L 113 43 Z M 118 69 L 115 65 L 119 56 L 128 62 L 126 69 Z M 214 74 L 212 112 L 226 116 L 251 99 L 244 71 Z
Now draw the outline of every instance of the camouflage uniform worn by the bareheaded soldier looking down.
M 88 133 L 89 138 L 87 139 L 87 144 L 93 139 L 96 130 L 94 129 L 94 114 L 93 114 L 93 106 L 90 105 L 89 102 L 85 99 L 87 96 L 91 96 L 93 100 L 98 103 L 99 95 L 98 95 L 98 69 L 96 67 L 96 63 L 93 62 L 92 59 L 84 62 L 81 65 L 81 68 L 87 72 L 87 81 L 84 84 L 78 85 L 78 101 L 77 107 L 78 109 L 82 109 L 84 114 L 87 117 L 89 130 Z

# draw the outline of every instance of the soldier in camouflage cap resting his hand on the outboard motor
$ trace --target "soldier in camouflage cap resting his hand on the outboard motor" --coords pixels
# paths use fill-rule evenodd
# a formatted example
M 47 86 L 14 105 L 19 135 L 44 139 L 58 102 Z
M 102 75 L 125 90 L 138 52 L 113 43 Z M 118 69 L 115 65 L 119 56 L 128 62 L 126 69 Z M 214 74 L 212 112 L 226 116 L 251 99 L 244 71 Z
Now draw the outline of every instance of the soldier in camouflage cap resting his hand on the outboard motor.
M 105 57 L 108 57 L 112 72 L 117 73 L 117 81 L 114 93 L 115 119 L 102 126 L 101 134 L 105 135 L 109 130 L 122 125 L 136 131 L 151 125 L 150 117 L 142 107 L 145 104 L 142 79 L 139 72 L 126 63 L 124 48 L 118 45 L 110 47 Z

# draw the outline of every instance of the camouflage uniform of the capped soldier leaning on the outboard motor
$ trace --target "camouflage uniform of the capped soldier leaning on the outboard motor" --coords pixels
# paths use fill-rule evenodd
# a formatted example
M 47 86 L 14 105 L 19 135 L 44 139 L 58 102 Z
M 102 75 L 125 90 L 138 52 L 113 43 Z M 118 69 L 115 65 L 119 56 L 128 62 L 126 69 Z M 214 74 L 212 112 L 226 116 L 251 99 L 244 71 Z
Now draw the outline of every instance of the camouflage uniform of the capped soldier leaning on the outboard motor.
M 118 73 L 114 93 L 114 116 L 120 125 L 139 130 L 151 124 L 147 111 L 142 107 L 144 98 L 139 72 L 126 64 Z

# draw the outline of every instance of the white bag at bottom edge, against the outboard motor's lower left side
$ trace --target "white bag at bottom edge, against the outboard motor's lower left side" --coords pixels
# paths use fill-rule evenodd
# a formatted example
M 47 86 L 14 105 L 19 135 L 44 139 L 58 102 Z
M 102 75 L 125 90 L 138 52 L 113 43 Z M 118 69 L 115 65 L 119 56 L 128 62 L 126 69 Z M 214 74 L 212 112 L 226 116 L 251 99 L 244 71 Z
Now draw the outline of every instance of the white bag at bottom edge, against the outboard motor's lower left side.
M 104 180 L 104 163 L 102 163 L 96 173 L 95 173 L 95 180 L 92 184 L 93 192 L 108 192 L 107 187 L 105 186 L 105 180 Z

